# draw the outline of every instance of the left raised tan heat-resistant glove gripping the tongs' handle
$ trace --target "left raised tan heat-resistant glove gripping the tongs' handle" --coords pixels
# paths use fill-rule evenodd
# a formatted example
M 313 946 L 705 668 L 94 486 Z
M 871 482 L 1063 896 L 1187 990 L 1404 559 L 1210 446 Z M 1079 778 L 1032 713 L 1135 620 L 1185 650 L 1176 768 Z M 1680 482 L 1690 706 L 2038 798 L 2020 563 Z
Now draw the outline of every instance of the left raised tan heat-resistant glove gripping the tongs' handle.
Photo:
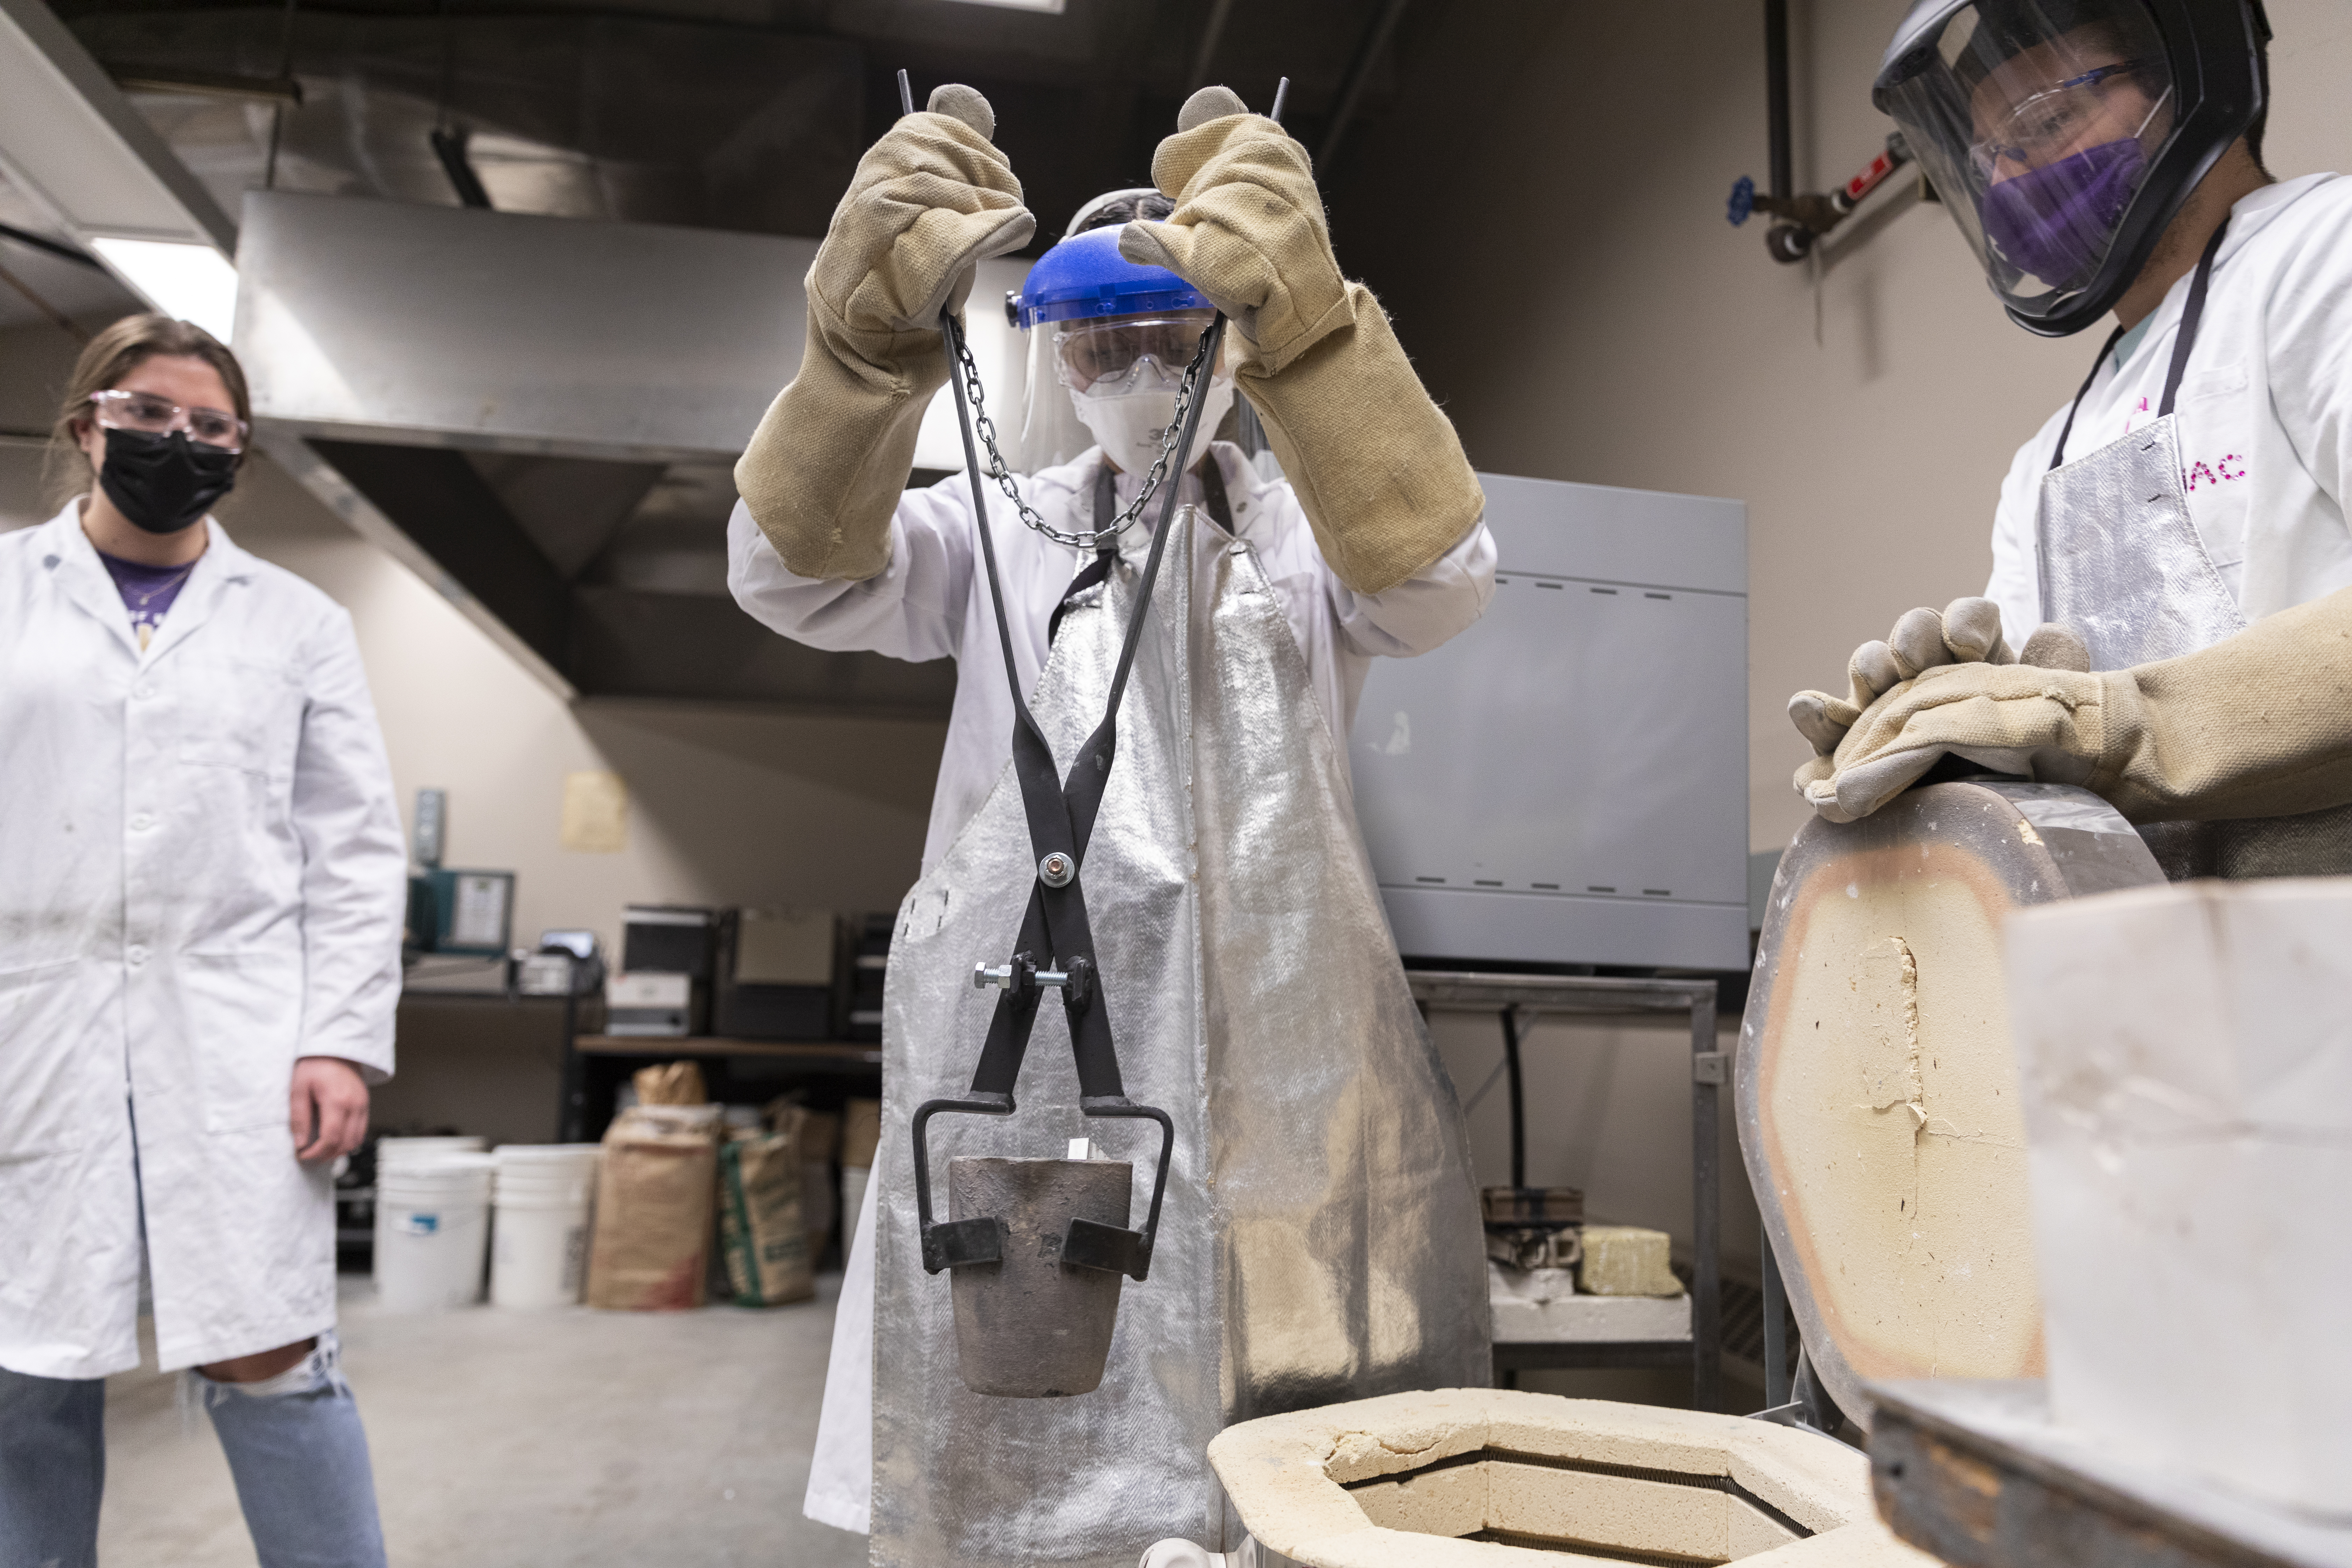
M 786 569 L 870 578 L 889 567 L 889 515 L 915 433 L 948 381 L 943 308 L 974 266 L 1021 249 L 1037 219 L 988 139 L 969 87 L 936 87 L 866 150 L 809 268 L 809 341 L 736 463 L 736 491 Z

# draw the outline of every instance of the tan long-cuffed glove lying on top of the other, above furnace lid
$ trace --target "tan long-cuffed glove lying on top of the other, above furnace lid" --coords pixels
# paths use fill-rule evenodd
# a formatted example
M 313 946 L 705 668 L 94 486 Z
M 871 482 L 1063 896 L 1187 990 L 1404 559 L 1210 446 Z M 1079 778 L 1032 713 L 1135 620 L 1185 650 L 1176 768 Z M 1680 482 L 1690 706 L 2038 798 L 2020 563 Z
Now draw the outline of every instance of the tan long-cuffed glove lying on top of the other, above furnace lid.
M 1830 764 L 1818 778 L 1799 773 L 1799 790 L 1820 816 L 1851 823 L 1945 752 L 2086 785 L 2136 823 L 2343 806 L 2352 802 L 2352 588 L 2131 670 L 1924 670 L 1872 703 L 1837 755 L 1816 759 Z

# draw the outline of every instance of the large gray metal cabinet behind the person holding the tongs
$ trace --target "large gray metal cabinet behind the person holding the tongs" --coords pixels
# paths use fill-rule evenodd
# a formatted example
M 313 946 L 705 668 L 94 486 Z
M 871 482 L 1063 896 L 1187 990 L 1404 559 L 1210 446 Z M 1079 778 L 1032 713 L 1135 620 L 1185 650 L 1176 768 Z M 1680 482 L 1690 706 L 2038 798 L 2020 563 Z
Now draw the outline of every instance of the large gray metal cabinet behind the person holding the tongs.
M 1748 966 L 1748 508 L 1479 475 L 1486 616 L 1350 736 L 1397 947 Z

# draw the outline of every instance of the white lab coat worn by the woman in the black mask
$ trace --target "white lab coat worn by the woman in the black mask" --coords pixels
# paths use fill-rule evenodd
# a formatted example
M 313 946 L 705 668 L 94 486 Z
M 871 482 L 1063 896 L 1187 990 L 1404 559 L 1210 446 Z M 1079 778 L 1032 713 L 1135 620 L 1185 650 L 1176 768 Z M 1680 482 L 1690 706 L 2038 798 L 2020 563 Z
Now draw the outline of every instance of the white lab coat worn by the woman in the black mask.
M 334 1326 L 296 1056 L 393 1072 L 407 851 L 350 616 L 216 524 L 141 654 L 80 503 L 0 536 L 0 1366 Z M 136 1168 L 134 1161 L 136 1159 Z

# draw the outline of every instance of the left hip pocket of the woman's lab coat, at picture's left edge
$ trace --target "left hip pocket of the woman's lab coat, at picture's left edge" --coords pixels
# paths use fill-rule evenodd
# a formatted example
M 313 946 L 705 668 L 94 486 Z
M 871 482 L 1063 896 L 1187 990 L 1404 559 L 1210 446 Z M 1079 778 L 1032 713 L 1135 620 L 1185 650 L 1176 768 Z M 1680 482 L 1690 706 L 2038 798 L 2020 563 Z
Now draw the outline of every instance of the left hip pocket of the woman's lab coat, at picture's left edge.
M 0 1166 L 78 1150 L 103 1124 L 106 1072 L 85 1048 L 103 1001 L 80 959 L 0 971 Z

